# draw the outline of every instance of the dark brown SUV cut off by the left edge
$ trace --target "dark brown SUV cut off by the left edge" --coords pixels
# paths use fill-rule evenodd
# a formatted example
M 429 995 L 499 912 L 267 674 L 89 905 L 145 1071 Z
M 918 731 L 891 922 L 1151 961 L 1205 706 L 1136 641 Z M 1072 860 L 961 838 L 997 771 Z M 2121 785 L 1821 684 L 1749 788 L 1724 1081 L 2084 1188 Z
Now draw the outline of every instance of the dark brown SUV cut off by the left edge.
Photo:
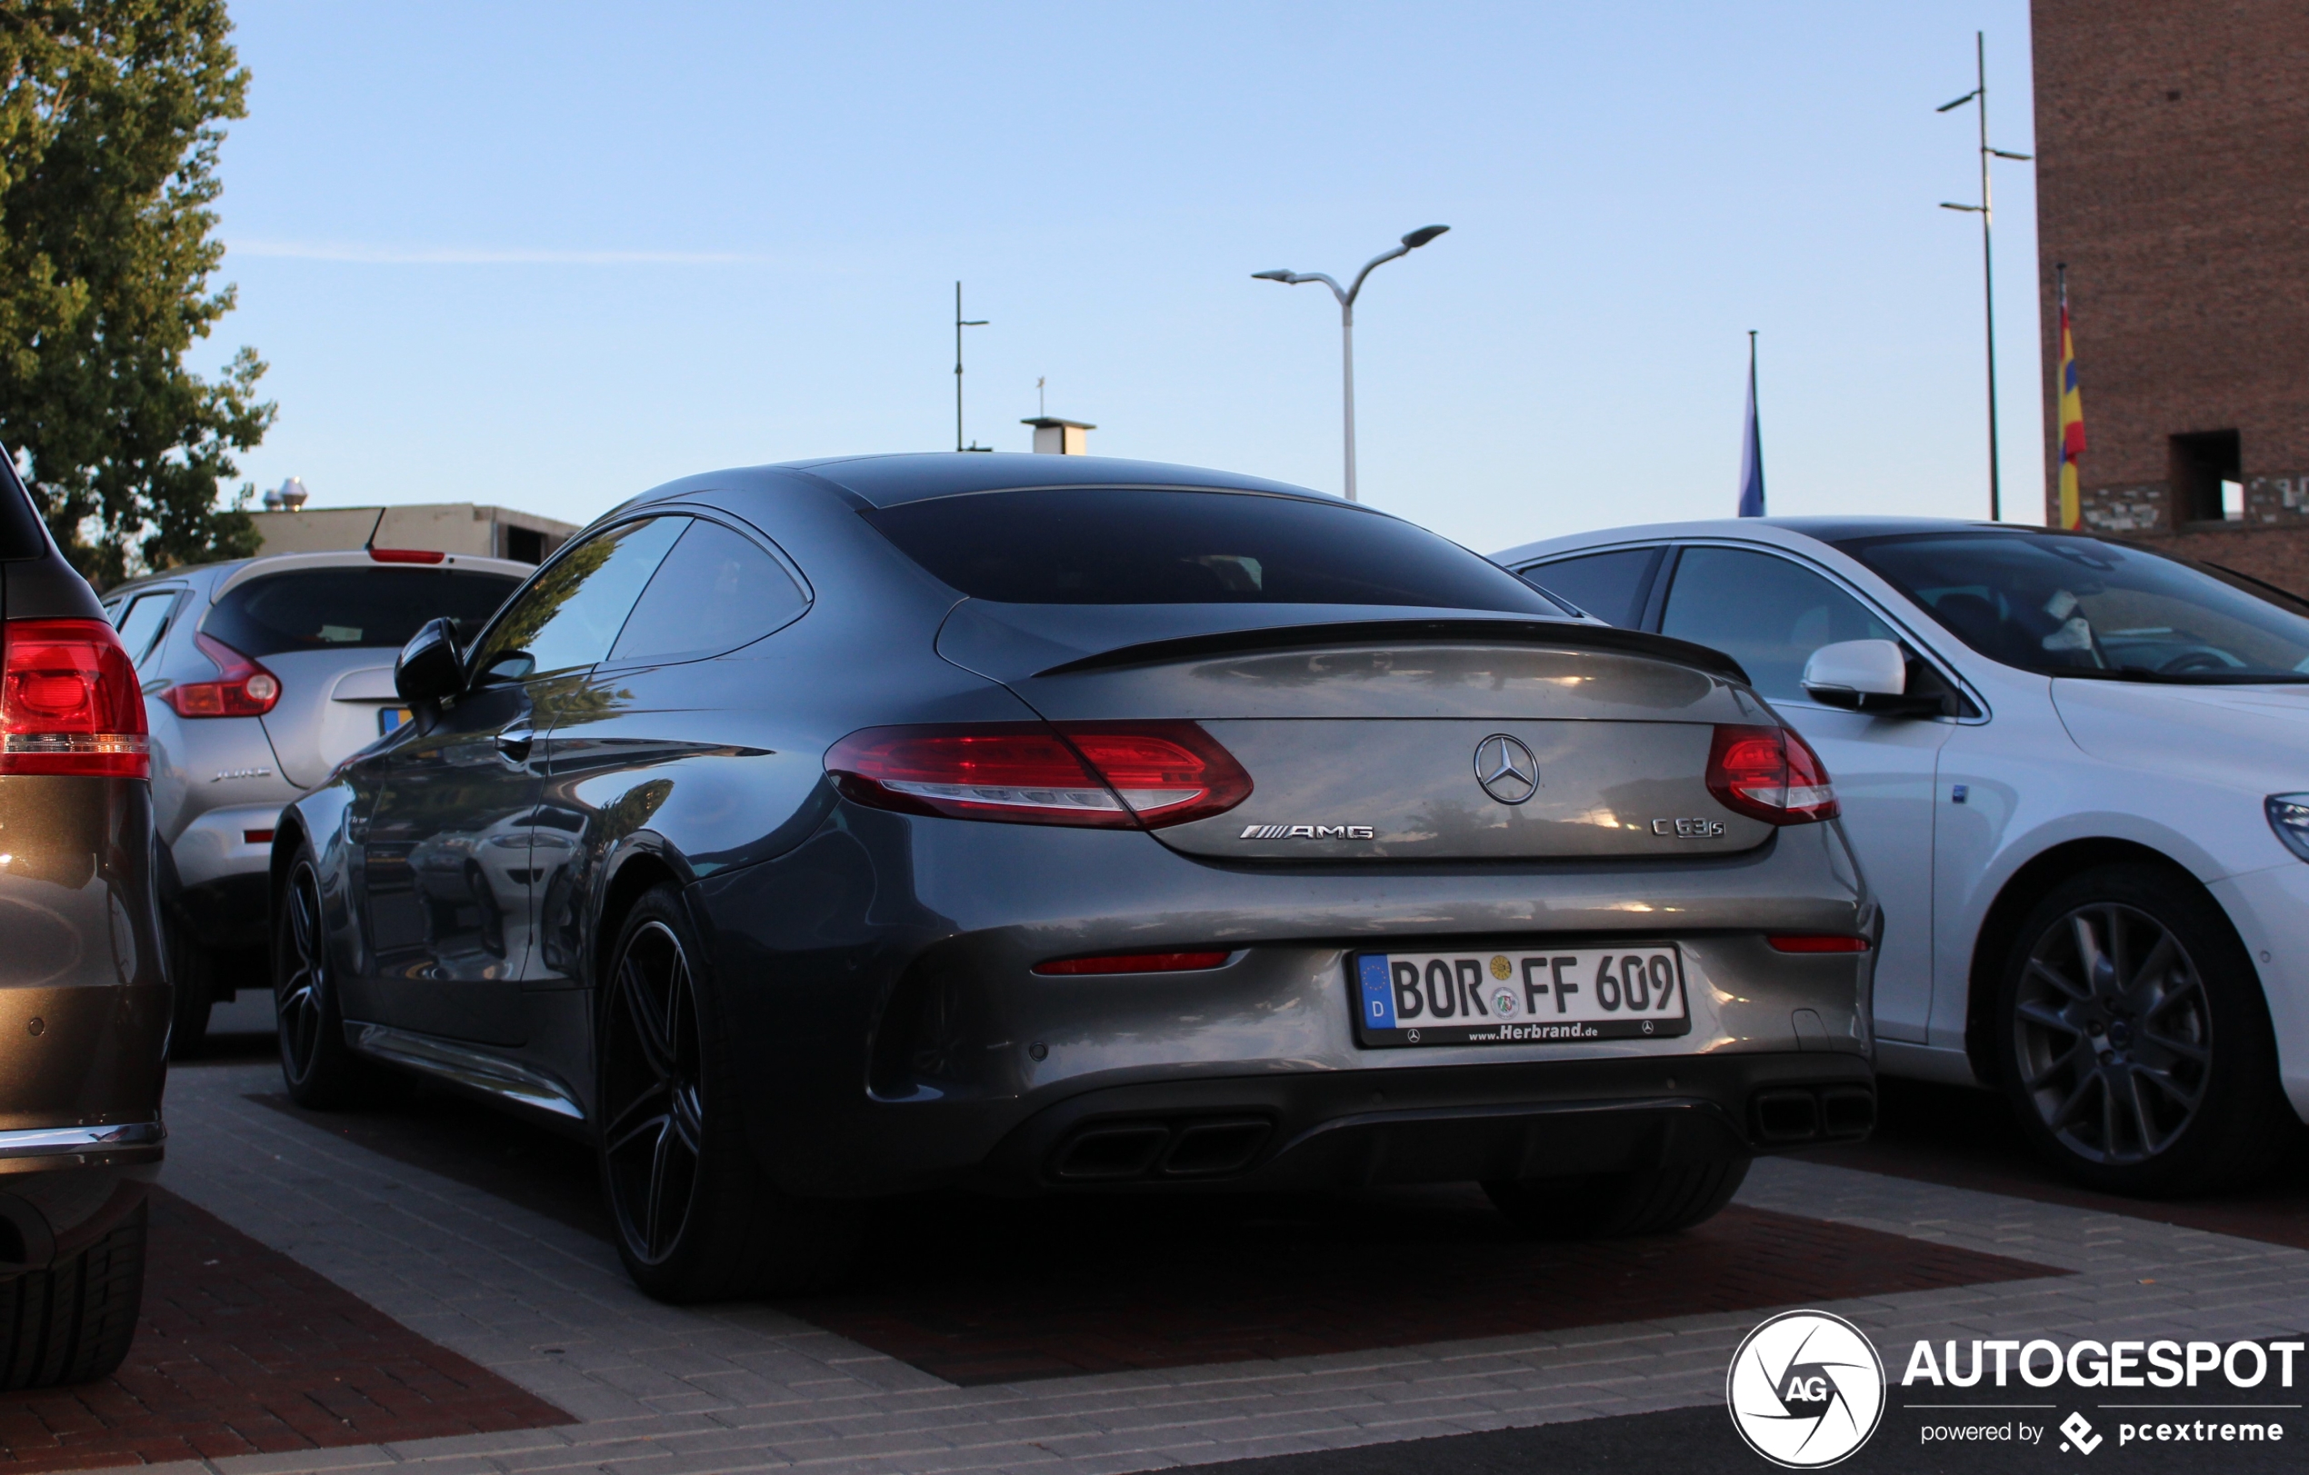
M 0 450 L 0 1390 L 120 1367 L 169 1050 L 145 713 Z

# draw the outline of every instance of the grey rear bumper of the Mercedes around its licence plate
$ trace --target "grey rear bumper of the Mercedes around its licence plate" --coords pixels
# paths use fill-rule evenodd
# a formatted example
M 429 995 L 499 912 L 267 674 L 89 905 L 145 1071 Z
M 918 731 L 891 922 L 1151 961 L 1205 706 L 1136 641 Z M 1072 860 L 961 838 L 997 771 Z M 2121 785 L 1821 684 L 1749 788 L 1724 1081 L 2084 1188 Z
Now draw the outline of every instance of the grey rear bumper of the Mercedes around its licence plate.
M 1138 833 L 845 803 L 787 856 L 688 898 L 748 1138 L 804 1196 L 1064 1189 L 1083 1180 L 1051 1152 L 1094 1117 L 1134 1115 L 1152 1122 L 1134 1129 L 1152 1156 L 1127 1175 L 1145 1184 L 1392 1182 L 1408 1168 L 1385 1163 L 1420 1154 L 1450 1163 L 1443 1177 L 1584 1173 L 1757 1150 L 1766 1078 L 1873 1083 L 1873 953 L 1789 956 L 1757 935 L 1875 935 L 1875 905 L 1824 824 L 1713 863 L 1372 873 L 1221 868 Z M 1674 939 L 1690 1032 L 1358 1046 L 1358 949 L 1533 937 Z M 1034 972 L 1041 958 L 1215 944 L 1233 951 L 1205 972 Z M 1233 1133 L 1235 1156 L 1205 1129 L 1226 1117 L 1258 1124 Z M 1173 1133 L 1198 1138 L 1205 1168 L 1161 1170 Z M 1582 1140 L 1616 1145 L 1556 1147 Z

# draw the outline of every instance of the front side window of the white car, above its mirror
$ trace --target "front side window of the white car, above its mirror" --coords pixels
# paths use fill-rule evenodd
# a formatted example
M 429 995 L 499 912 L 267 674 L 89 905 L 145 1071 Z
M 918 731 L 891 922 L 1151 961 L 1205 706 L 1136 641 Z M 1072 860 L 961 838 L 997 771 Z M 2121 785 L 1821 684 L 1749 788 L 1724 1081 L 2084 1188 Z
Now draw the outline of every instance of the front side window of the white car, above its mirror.
M 1773 702 L 1803 699 L 1803 662 L 1838 639 L 1900 635 L 1817 572 L 1739 547 L 1688 547 L 1660 635 L 1716 646 Z

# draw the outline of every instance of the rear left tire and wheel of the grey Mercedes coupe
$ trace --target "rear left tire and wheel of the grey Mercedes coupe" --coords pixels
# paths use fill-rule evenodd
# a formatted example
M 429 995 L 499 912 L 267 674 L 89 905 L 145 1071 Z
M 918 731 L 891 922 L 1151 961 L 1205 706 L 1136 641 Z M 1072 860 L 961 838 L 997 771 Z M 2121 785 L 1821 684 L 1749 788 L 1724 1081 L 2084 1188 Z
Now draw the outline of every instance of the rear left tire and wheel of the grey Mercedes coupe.
M 660 1302 L 824 1290 L 854 1235 L 834 1205 L 780 1193 L 739 1120 L 734 1046 L 681 893 L 647 891 L 603 974 L 603 1196 L 633 1281 Z

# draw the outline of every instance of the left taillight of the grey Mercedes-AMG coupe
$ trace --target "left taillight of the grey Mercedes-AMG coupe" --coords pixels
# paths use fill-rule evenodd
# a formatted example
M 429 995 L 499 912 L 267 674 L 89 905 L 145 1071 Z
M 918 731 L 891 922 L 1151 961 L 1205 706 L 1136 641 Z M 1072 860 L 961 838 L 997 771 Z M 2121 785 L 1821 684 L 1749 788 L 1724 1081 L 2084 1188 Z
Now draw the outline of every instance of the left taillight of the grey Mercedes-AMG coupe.
M 1194 722 L 868 727 L 827 753 L 843 794 L 882 810 L 1159 829 L 1251 796 L 1251 776 Z

